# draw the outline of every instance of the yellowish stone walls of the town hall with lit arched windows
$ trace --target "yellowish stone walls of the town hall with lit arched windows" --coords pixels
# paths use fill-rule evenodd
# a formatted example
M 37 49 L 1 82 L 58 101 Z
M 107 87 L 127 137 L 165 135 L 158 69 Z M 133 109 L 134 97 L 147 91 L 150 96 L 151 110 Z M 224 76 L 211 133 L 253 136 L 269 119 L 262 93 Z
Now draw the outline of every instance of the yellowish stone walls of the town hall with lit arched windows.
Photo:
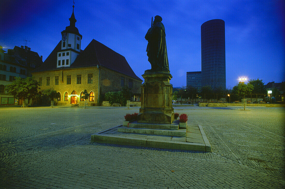
M 100 85 L 99 85 L 99 70 L 100 70 Z M 93 82 L 88 83 L 88 74 L 93 74 Z M 64 94 L 67 92 L 68 95 L 71 95 L 72 91 L 76 91 L 78 98 L 77 103 L 80 102 L 80 94 L 85 89 L 88 93 L 91 91 L 94 93 L 94 103 L 97 103 L 99 86 L 101 94 L 104 94 L 109 91 L 119 91 L 121 87 L 121 77 L 125 77 L 125 86 L 128 86 L 128 77 L 126 75 L 117 73 L 115 71 L 99 67 L 84 67 L 84 68 L 73 68 L 73 69 L 62 69 L 62 70 L 52 70 L 52 71 L 42 71 L 32 73 L 34 79 L 39 81 L 39 78 L 42 78 L 42 85 L 39 86 L 40 90 L 45 89 L 54 89 L 60 92 L 61 98 L 60 102 L 66 102 L 67 104 L 71 103 L 71 98 L 68 98 L 68 101 L 64 100 Z M 71 84 L 67 84 L 67 76 L 71 76 Z M 77 84 L 77 75 L 81 75 L 81 84 Z M 55 85 L 55 77 L 58 76 L 59 82 L 58 85 Z M 50 85 L 46 85 L 47 77 L 50 77 Z M 141 81 L 133 79 L 133 93 L 141 93 Z M 89 100 L 88 100 L 89 102 Z

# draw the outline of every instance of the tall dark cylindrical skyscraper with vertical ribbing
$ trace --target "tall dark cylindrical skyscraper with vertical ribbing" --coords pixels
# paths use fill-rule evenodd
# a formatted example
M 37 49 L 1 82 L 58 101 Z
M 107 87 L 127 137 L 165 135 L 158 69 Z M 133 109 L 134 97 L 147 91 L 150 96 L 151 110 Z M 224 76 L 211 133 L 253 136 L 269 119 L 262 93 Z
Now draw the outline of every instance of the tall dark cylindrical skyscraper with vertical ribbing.
M 201 25 L 202 86 L 226 89 L 225 22 L 209 20 Z

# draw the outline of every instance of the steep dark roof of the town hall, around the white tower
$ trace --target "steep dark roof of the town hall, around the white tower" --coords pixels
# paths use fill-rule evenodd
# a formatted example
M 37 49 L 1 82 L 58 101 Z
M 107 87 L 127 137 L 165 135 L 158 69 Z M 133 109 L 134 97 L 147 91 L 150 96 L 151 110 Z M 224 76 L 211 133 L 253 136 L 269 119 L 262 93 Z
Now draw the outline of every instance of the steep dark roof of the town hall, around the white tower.
M 124 56 L 93 39 L 87 47 L 76 57 L 69 67 L 57 68 L 57 52 L 61 50 L 61 41 L 46 58 L 43 65 L 34 72 L 56 69 L 70 69 L 77 67 L 102 66 L 113 71 L 141 80 L 134 73 Z M 68 49 L 66 49 L 68 50 Z M 142 80 L 141 80 L 142 81 Z

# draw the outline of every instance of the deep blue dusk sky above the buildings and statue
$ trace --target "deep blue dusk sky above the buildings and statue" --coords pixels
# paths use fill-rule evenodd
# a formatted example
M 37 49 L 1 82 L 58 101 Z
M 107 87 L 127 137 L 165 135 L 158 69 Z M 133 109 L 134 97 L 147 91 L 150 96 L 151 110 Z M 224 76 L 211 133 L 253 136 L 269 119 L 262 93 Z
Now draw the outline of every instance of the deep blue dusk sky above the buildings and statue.
M 0 45 L 4 50 L 23 45 L 43 56 L 61 40 L 69 25 L 73 1 L 0 2 Z M 225 21 L 226 87 L 238 78 L 284 79 L 283 1 L 75 1 L 76 27 L 82 49 L 95 39 L 125 56 L 141 79 L 150 69 L 144 36 L 151 17 L 160 15 L 166 31 L 170 83 L 186 85 L 187 71 L 201 71 L 201 24 Z

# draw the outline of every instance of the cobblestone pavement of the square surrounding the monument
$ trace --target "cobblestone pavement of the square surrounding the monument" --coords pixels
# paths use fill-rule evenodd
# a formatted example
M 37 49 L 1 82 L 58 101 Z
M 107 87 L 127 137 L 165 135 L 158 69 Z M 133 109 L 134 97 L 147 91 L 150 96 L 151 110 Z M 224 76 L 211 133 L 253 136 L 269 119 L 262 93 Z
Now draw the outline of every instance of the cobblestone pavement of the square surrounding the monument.
M 91 142 L 138 107 L 0 107 L 0 187 L 284 188 L 284 110 L 175 107 L 206 153 Z

